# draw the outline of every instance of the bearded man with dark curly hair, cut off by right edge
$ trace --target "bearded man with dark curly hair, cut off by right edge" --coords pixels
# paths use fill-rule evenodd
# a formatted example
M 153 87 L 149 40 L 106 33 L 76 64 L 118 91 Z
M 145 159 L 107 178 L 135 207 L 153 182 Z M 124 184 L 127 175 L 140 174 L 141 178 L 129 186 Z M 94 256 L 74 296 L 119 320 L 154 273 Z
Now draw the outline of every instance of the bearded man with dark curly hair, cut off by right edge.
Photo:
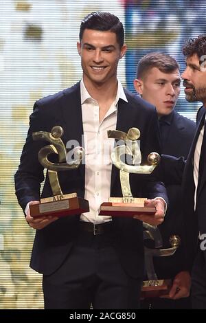
M 187 157 L 183 175 L 183 205 L 187 234 L 187 260 L 192 267 L 192 307 L 206 308 L 206 35 L 191 38 L 183 47 L 186 69 L 182 74 L 185 98 L 189 102 L 201 101 L 197 114 L 197 129 Z M 199 241 L 199 243 L 198 243 Z M 202 242 L 201 242 L 202 241 Z

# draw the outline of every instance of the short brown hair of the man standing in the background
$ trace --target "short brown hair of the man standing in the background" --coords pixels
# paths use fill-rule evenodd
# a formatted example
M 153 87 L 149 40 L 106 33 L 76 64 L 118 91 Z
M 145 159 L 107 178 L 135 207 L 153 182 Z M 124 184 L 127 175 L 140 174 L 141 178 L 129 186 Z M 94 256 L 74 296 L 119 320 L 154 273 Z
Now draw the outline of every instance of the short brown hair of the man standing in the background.
M 163 73 L 172 73 L 172 71 L 179 69 L 179 64 L 169 54 L 153 52 L 143 56 L 139 60 L 137 78 L 144 78 L 152 67 L 157 67 Z

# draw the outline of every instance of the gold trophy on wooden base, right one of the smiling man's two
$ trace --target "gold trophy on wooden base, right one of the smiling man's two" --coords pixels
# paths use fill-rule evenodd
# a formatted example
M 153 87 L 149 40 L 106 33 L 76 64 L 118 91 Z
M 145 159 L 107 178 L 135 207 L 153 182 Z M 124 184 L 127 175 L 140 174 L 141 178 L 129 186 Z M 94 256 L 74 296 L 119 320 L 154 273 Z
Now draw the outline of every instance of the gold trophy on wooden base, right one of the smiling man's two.
M 150 174 L 157 164 L 159 164 L 160 156 L 157 153 L 148 155 L 148 165 L 141 166 L 141 151 L 139 148 L 140 131 L 137 128 L 129 129 L 128 133 L 122 131 L 108 131 L 108 138 L 122 140 L 123 145 L 113 148 L 111 160 L 119 169 L 119 177 L 122 188 L 122 197 L 110 197 L 108 202 L 100 205 L 99 215 L 111 216 L 134 216 L 137 214 L 155 214 L 156 208 L 145 207 L 144 201 L 146 198 L 136 198 L 130 189 L 129 176 L 130 173 L 135 174 Z M 132 165 L 125 164 L 122 157 L 130 155 L 132 157 Z M 153 227 L 148 225 L 149 227 Z M 152 230 L 152 228 L 151 228 Z

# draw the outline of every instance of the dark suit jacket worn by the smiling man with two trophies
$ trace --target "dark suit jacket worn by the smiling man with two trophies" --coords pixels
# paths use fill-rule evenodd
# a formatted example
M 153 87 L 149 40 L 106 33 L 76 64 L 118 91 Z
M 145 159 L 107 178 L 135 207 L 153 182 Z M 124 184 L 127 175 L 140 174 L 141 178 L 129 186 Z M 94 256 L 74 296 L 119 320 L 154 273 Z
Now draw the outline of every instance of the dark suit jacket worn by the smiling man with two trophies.
M 127 132 L 135 126 L 141 131 L 141 154 L 143 163 L 152 151 L 160 153 L 159 128 L 154 107 L 132 93 L 125 91 L 128 103 L 119 99 L 117 111 L 117 129 Z M 34 104 L 34 113 L 30 116 L 30 129 L 21 155 L 21 164 L 15 175 L 16 196 L 25 210 L 29 201 L 40 199 L 40 184 L 44 179 L 43 167 L 38 162 L 38 151 L 48 144 L 34 142 L 34 131 L 51 131 L 60 125 L 64 129 L 62 137 L 77 140 L 82 145 L 82 110 L 80 104 L 80 82 L 60 91 L 53 96 L 38 100 Z M 77 170 L 59 173 L 60 186 L 64 194 L 77 192 L 84 197 L 84 165 Z M 165 187 L 159 182 L 158 170 L 155 175 L 130 175 L 130 186 L 135 197 L 163 197 L 167 200 Z M 42 197 L 51 197 L 52 190 L 46 177 Z M 119 170 L 113 166 L 111 174 L 111 197 L 121 197 Z M 80 215 L 67 216 L 36 230 L 32 251 L 31 267 L 43 274 L 52 274 L 69 254 L 78 230 Z M 125 270 L 134 277 L 143 276 L 144 248 L 142 225 L 135 219 L 113 219 L 115 226 L 116 248 Z

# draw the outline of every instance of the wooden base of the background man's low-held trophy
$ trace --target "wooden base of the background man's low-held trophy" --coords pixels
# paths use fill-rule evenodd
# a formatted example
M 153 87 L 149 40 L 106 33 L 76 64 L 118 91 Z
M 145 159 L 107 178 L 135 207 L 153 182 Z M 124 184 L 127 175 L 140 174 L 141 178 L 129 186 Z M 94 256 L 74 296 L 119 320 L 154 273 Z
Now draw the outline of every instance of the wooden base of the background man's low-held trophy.
M 168 295 L 171 287 L 172 280 L 170 279 L 145 280 L 141 287 L 141 298 L 158 298 Z

